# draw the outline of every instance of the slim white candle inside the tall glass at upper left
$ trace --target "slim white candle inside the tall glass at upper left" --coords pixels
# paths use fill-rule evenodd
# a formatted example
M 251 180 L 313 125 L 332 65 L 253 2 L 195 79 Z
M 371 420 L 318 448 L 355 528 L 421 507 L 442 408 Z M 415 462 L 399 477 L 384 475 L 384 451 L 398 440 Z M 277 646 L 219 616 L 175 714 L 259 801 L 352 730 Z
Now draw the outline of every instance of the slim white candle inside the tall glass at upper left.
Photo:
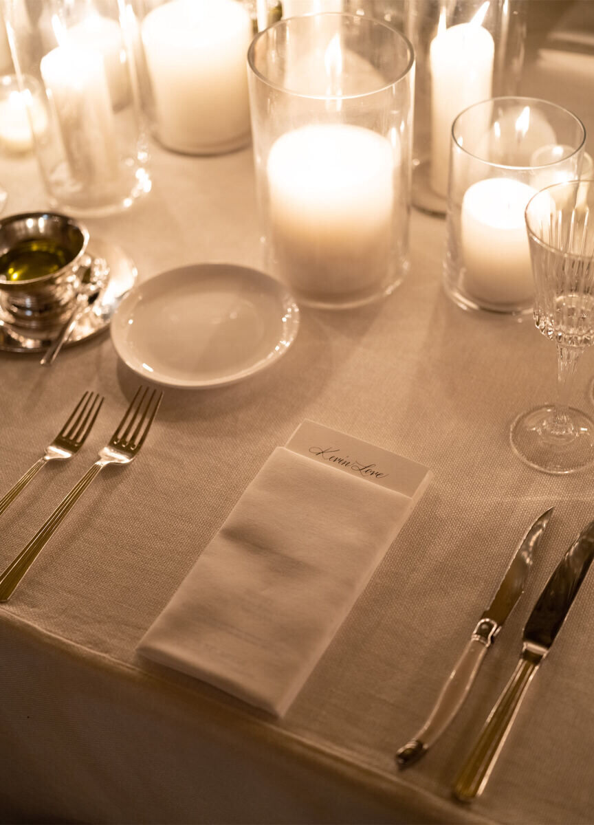
M 40 70 L 73 183 L 106 186 L 117 176 L 118 149 L 103 59 L 63 45 L 45 54 Z

